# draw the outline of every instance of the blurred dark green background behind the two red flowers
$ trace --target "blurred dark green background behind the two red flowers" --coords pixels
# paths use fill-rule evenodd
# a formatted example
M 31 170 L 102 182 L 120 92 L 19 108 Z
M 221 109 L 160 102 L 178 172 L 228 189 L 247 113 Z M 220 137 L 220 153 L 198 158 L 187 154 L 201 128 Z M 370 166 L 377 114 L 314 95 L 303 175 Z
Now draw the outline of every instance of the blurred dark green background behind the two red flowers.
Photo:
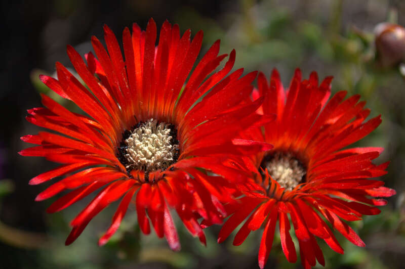
M 276 67 L 285 85 L 296 67 L 308 77 L 333 75 L 333 93 L 345 89 L 361 94 L 383 123 L 357 146 L 380 146 L 378 162 L 390 160 L 382 180 L 397 195 L 378 216 L 352 223 L 366 242 L 353 246 L 338 236 L 345 249 L 340 255 L 319 241 L 327 268 L 403 268 L 405 264 L 405 80 L 400 63 L 405 48 L 394 46 L 398 59 L 384 64 L 386 51 L 376 53 L 374 28 L 380 22 L 405 25 L 405 2 L 389 0 L 239 0 L 239 1 L 3 1 L 1 20 L 2 64 L 0 72 L 0 268 L 258 268 L 261 233 L 252 233 L 239 247 L 232 239 L 216 243 L 219 227 L 207 229 L 208 246 L 201 246 L 178 225 L 180 252 L 172 252 L 155 234 L 143 236 L 130 208 L 117 234 L 104 247 L 98 237 L 108 228 L 110 206 L 96 216 L 71 246 L 64 241 L 68 223 L 81 203 L 56 214 L 46 214 L 51 201 L 34 202 L 47 186 L 28 186 L 35 175 L 54 167 L 43 158 L 21 157 L 19 137 L 39 128 L 24 120 L 26 109 L 41 106 L 39 93 L 58 99 L 38 80 L 52 74 L 60 61 L 71 67 L 65 52 L 71 44 L 80 54 L 91 51 L 90 37 L 103 37 L 107 24 L 121 40 L 125 26 L 138 23 L 143 29 L 153 17 L 158 25 L 168 19 L 182 31 L 204 30 L 203 52 L 221 39 L 221 52 L 236 49 L 235 68 L 260 69 L 269 75 Z M 391 48 L 392 49 L 392 48 Z M 388 48 L 390 50 L 390 48 Z M 388 51 L 389 53 L 389 51 Z M 385 62 L 386 63 L 386 62 Z M 402 73 L 405 73 L 402 71 Z M 64 104 L 69 107 L 70 104 Z M 69 107 L 74 109 L 72 107 Z M 54 200 L 54 199 L 50 199 Z M 321 267 L 317 265 L 317 267 Z M 275 237 L 267 268 L 300 268 L 290 264 Z

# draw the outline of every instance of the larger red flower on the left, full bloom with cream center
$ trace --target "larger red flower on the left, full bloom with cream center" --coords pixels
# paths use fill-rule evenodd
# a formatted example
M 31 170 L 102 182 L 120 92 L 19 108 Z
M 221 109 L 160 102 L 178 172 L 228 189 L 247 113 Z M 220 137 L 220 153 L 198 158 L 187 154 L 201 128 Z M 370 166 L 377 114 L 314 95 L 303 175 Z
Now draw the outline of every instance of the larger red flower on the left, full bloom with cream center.
M 157 47 L 152 19 L 146 31 L 136 24 L 132 34 L 126 28 L 124 57 L 107 26 L 104 37 L 107 50 L 92 37 L 97 59 L 89 53 L 87 64 L 71 46 L 67 48 L 87 87 L 60 63 L 56 63 L 58 79 L 41 76 L 54 92 L 73 101 L 88 116 L 72 113 L 45 95 L 45 108 L 28 110 L 29 122 L 60 135 L 42 131 L 24 136 L 23 141 L 39 146 L 20 154 L 62 163 L 35 176 L 30 184 L 65 176 L 36 200 L 69 190 L 47 210 L 57 212 L 101 188 L 71 221 L 67 245 L 96 214 L 120 197 L 100 245 L 118 229 L 133 199 L 143 233 L 150 233 L 150 220 L 157 236 L 165 236 L 170 247 L 178 250 L 179 239 L 169 211 L 174 208 L 190 233 L 205 243 L 197 219 L 221 222 L 225 212 L 219 201 L 229 196 L 223 188 L 229 180 L 237 182 L 244 177 L 223 164 L 232 156 L 266 148 L 263 143 L 234 139 L 239 131 L 263 120 L 255 113 L 260 100 L 242 102 L 249 99 L 256 73 L 241 77 L 243 71 L 239 69 L 228 75 L 235 60 L 232 51 L 223 68 L 209 76 L 227 56 L 218 56 L 218 40 L 190 74 L 203 33 L 197 32 L 190 40 L 190 30 L 180 36 L 179 26 L 167 21 L 161 27 Z

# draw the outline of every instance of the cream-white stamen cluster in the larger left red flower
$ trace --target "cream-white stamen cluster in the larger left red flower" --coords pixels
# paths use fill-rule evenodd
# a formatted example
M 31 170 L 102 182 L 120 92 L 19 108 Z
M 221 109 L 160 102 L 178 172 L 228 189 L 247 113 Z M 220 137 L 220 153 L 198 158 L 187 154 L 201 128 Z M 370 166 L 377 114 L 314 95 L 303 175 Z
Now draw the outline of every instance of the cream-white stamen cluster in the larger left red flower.
M 170 124 L 149 119 L 135 128 L 125 140 L 128 146 L 124 155 L 129 164 L 126 168 L 154 171 L 168 168 L 175 160 L 179 146 L 172 145 Z

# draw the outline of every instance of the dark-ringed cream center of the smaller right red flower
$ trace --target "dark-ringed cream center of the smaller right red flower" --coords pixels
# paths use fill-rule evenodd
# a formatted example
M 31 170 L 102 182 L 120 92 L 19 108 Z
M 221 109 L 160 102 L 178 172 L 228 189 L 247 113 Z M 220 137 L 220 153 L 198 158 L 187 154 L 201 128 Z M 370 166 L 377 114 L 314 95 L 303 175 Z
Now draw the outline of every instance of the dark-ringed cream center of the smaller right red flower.
M 288 191 L 300 184 L 306 174 L 306 168 L 289 152 L 275 152 L 263 158 L 260 167 L 267 168 L 273 180 Z

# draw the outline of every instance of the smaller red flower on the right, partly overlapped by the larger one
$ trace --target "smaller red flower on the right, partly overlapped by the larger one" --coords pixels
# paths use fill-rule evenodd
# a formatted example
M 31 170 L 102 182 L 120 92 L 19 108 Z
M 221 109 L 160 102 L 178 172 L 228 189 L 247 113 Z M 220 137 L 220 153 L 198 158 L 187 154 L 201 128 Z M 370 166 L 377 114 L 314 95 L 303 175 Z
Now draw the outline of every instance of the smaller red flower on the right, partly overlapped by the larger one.
M 271 74 L 270 85 L 259 73 L 258 91 L 254 91 L 253 99 L 264 97 L 264 102 L 258 112 L 274 113 L 277 118 L 263 129 L 245 131 L 243 138 L 265 141 L 274 148 L 245 158 L 245 166 L 254 174 L 252 184 L 257 184 L 256 191 L 245 189 L 246 196 L 239 203 L 225 205 L 232 215 L 223 225 L 218 242 L 224 241 L 250 215 L 233 244 L 241 244 L 251 231 L 263 225 L 261 268 L 269 256 L 277 221 L 281 247 L 289 262 L 297 260 L 290 216 L 303 266 L 310 268 L 316 260 L 325 265 L 315 236 L 343 253 L 326 220 L 350 242 L 365 246 L 343 220 L 378 214 L 380 210 L 374 206 L 387 202 L 374 197 L 395 194 L 383 187 L 382 181 L 368 179 L 386 174 L 388 162 L 372 163 L 382 148 L 344 149 L 373 131 L 381 117 L 365 122 L 370 110 L 363 108 L 365 102 L 358 102 L 358 95 L 344 100 L 346 92 L 342 91 L 329 100 L 331 81 L 332 77 L 327 77 L 318 85 L 315 72 L 309 80 L 301 80 L 301 71 L 297 69 L 285 91 L 276 70 Z

